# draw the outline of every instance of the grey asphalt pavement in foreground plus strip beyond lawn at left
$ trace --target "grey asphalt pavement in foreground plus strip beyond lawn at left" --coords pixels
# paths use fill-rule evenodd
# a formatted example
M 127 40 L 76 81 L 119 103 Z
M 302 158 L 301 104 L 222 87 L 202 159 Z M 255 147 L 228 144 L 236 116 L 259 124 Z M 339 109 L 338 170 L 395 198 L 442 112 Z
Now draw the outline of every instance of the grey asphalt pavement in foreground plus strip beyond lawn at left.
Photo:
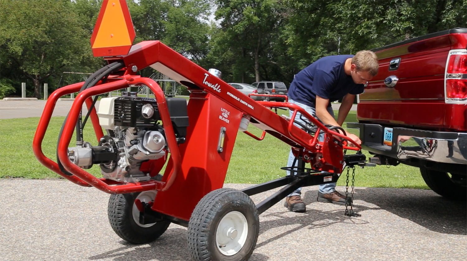
M 0 118 L 40 116 L 43 104 L 0 101 Z M 70 105 L 59 101 L 55 115 L 66 115 Z M 150 244 L 120 239 L 107 220 L 109 195 L 98 189 L 59 179 L 3 179 L 0 188 L 1 261 L 190 259 L 186 228 L 179 225 Z M 316 189 L 303 190 L 306 213 L 289 212 L 280 202 L 260 215 L 250 260 L 466 260 L 465 202 L 431 190 L 356 188 L 362 216 L 348 218 L 345 207 L 316 202 Z M 259 203 L 274 191 L 252 198 Z

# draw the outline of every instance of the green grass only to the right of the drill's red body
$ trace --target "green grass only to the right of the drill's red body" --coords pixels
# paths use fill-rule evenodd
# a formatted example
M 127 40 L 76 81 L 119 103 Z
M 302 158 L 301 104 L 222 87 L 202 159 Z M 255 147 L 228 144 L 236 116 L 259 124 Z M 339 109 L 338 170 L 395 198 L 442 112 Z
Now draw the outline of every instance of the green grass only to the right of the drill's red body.
M 288 115 L 287 112 L 278 112 L 278 114 Z M 337 111 L 335 114 L 337 115 Z M 346 122 L 356 122 L 355 112 L 349 113 Z M 347 128 L 346 123 L 344 128 Z M 252 126 L 248 130 L 257 136 L 262 132 Z M 356 129 L 350 129 L 350 132 L 358 135 Z M 271 135 L 266 135 L 262 141 L 256 141 L 243 133 L 238 133 L 226 183 L 256 184 L 282 177 L 285 171 L 280 168 L 286 166 L 289 151 L 290 146 Z M 370 154 L 365 151 L 363 153 L 368 159 Z M 428 189 L 418 168 L 402 164 L 363 169 L 357 167 L 355 174 L 355 186 L 359 187 Z M 345 176 L 339 179 L 337 185 L 345 186 Z

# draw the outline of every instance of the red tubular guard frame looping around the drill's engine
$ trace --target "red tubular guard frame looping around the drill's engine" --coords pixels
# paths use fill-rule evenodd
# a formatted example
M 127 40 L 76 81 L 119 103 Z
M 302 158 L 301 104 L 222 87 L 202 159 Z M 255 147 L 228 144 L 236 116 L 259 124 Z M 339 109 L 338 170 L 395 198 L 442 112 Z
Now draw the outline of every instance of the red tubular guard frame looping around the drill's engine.
M 72 176 L 64 174 L 60 171 L 57 162 L 50 160 L 47 158 L 44 153 L 42 152 L 42 140 L 44 138 L 45 132 L 47 130 L 47 126 L 50 123 L 50 118 L 52 116 L 53 109 L 57 103 L 58 98 L 62 97 L 65 94 L 71 94 L 74 92 L 78 92 L 79 89 L 83 86 L 83 82 L 72 84 L 66 87 L 62 87 L 57 89 L 53 92 L 48 101 L 45 104 L 44 111 L 42 112 L 41 119 L 39 120 L 39 124 L 37 126 L 36 134 L 33 140 L 33 151 L 34 154 L 44 166 L 48 167 L 50 170 L 54 171 L 55 173 L 61 175 L 62 177 L 66 178 L 69 181 L 72 181 L 75 184 L 85 187 L 96 187 L 106 193 L 111 194 L 119 194 L 119 193 L 132 193 L 132 192 L 141 192 L 145 190 L 167 190 L 170 188 L 172 183 L 175 181 L 177 174 L 181 171 L 180 162 L 181 156 L 178 150 L 177 141 L 175 139 L 175 133 L 171 124 L 164 124 L 163 128 L 165 133 L 167 134 L 167 143 L 170 149 L 170 156 L 171 160 L 173 160 L 173 168 L 170 174 L 164 175 L 163 181 L 145 181 L 139 183 L 131 183 L 131 184 L 124 184 L 118 183 L 115 181 L 110 181 L 106 179 L 99 179 L 96 178 L 94 175 L 88 173 L 84 169 L 76 166 L 73 164 L 70 159 L 68 158 L 68 146 L 70 145 L 71 137 L 74 132 L 74 128 L 78 121 L 78 116 L 83 106 L 83 103 L 86 102 L 88 110 L 92 104 L 92 99 L 90 97 L 92 95 L 98 95 L 114 90 L 118 90 L 124 87 L 128 87 L 130 84 L 138 85 L 144 84 L 148 86 L 155 94 L 158 108 L 161 109 L 160 115 L 161 119 L 165 123 L 170 123 L 170 115 L 168 113 L 167 102 L 165 100 L 165 96 L 162 92 L 162 89 L 159 85 L 152 79 L 149 78 L 141 78 L 139 76 L 131 76 L 127 75 L 124 79 L 113 80 L 109 83 L 98 85 L 92 87 L 90 89 L 82 91 L 76 97 L 73 105 L 71 106 L 70 112 L 68 114 L 68 119 L 64 124 L 64 129 L 62 131 L 62 137 L 58 142 L 58 158 L 60 162 L 62 162 L 64 168 L 69 171 Z M 104 134 L 102 129 L 99 125 L 99 118 L 97 116 L 95 109 L 90 109 L 91 113 L 91 121 L 96 133 L 96 138 L 99 140 Z M 117 185 L 118 186 L 114 186 Z

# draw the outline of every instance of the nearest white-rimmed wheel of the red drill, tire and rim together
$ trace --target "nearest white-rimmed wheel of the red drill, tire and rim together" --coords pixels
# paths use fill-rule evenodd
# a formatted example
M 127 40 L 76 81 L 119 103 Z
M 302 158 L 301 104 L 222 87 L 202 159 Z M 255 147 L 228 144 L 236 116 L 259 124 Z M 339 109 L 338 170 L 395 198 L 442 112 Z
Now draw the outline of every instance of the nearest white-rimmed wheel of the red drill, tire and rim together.
M 235 189 L 217 189 L 191 214 L 188 248 L 194 260 L 248 260 L 258 234 L 258 211 L 250 197 Z

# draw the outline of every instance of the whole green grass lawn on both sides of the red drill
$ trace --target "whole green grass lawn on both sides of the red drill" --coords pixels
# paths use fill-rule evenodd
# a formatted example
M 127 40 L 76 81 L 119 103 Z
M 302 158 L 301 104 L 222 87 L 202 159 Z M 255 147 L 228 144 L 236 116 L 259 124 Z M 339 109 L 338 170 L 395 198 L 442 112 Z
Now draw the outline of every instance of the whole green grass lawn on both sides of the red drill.
M 279 115 L 288 114 L 279 111 Z M 56 160 L 57 136 L 64 117 L 52 117 L 49 129 L 42 142 L 42 151 L 52 160 Z M 32 152 L 32 139 L 39 118 L 21 118 L 0 120 L 0 178 L 57 178 L 57 174 L 42 166 Z M 348 122 L 355 122 L 355 113 L 349 113 Z M 346 127 L 344 125 L 344 127 Z M 261 135 L 261 130 L 249 126 L 250 132 Z M 352 130 L 357 134 L 358 130 Z M 97 145 L 91 124 L 84 130 L 85 141 Z M 74 139 L 71 145 L 74 144 Z M 271 135 L 262 141 L 239 132 L 226 176 L 226 183 L 262 183 L 285 175 L 285 167 L 290 147 Z M 367 157 L 369 154 L 364 152 Z M 90 173 L 100 176 L 99 166 L 94 166 Z M 345 185 L 342 177 L 338 186 Z M 399 165 L 396 167 L 365 167 L 356 169 L 355 186 L 428 189 L 415 167 Z

